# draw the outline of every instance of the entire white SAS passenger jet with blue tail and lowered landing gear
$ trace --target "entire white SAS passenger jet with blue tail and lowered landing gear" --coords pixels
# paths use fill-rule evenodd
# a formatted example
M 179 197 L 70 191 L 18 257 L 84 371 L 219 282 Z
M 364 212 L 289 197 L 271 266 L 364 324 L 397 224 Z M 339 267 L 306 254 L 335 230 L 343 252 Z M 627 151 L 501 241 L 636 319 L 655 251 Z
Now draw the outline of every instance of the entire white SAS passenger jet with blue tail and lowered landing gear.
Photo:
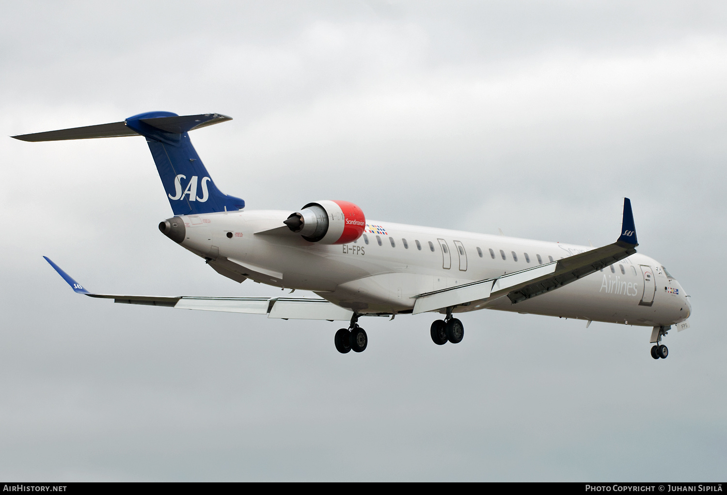
M 613 244 L 594 248 L 368 220 L 356 204 L 318 200 L 289 210 L 246 210 L 222 193 L 190 142 L 193 129 L 229 121 L 218 113 L 148 112 L 111 124 L 13 136 L 39 142 L 142 136 L 149 146 L 173 217 L 166 237 L 204 259 L 220 275 L 312 297 L 190 297 L 89 292 L 45 257 L 79 294 L 114 302 L 348 321 L 334 334 L 340 353 L 364 351 L 363 316 L 435 312 L 437 345 L 464 337 L 458 313 L 491 309 L 650 327 L 651 357 L 667 358 L 662 337 L 689 328 L 689 296 L 638 246 L 631 201 Z M 663 290 L 662 290 L 663 287 Z

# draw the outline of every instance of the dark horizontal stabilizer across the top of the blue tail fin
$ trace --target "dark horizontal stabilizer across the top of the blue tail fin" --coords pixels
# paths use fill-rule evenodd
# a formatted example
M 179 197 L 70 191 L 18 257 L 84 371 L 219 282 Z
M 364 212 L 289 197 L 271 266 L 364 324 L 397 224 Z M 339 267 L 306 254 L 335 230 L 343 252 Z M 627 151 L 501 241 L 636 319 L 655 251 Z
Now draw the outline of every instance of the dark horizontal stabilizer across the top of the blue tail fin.
M 141 118 L 140 121 L 154 129 L 159 129 L 172 134 L 182 134 L 193 129 L 199 129 L 212 124 L 230 121 L 232 117 L 220 113 L 205 113 L 201 115 L 184 115 L 155 118 Z M 112 122 L 111 124 L 99 124 L 96 126 L 73 127 L 71 129 L 59 129 L 57 131 L 36 132 L 34 134 L 21 134 L 13 136 L 17 140 L 39 142 L 39 141 L 63 141 L 63 140 L 85 140 L 95 137 L 122 137 L 140 136 L 126 125 L 126 121 Z

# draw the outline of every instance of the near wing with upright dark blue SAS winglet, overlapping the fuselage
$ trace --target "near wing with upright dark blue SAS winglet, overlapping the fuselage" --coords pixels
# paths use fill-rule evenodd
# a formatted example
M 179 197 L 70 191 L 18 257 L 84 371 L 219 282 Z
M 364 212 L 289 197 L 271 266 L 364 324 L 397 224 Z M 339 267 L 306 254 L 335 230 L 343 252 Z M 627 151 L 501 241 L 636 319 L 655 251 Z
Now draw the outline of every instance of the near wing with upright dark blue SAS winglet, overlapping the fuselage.
M 553 291 L 586 275 L 595 273 L 636 252 L 636 228 L 631 201 L 624 198 L 624 219 L 621 236 L 608 244 L 585 253 L 559 259 L 557 262 L 526 268 L 498 278 L 454 286 L 440 291 L 419 294 L 414 302 L 414 314 L 441 310 L 457 305 L 485 305 L 500 297 L 513 304 Z

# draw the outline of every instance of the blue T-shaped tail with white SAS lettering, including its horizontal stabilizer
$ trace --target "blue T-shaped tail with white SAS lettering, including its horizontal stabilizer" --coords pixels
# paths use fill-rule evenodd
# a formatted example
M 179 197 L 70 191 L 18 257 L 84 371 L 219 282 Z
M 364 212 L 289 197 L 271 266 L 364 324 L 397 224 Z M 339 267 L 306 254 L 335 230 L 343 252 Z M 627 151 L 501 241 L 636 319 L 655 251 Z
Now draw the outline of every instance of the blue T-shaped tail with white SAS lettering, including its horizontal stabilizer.
M 142 135 L 149 145 L 175 215 L 233 212 L 243 209 L 245 201 L 217 189 L 188 134 L 193 129 L 228 120 L 232 119 L 219 113 L 178 116 L 171 112 L 148 112 L 126 118 L 123 122 L 13 137 L 37 142 Z

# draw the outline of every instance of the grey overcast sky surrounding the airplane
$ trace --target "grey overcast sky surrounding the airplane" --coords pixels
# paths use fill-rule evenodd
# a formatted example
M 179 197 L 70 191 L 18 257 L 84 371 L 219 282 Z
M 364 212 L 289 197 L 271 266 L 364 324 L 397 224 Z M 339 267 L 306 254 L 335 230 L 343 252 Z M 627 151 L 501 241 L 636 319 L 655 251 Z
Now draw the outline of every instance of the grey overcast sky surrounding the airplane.
M 724 480 L 727 7 L 719 1 L 6 2 L 0 134 L 150 110 L 247 209 L 640 247 L 691 329 L 483 310 L 341 323 L 115 305 L 279 296 L 162 236 L 142 138 L 0 140 L 0 478 Z

